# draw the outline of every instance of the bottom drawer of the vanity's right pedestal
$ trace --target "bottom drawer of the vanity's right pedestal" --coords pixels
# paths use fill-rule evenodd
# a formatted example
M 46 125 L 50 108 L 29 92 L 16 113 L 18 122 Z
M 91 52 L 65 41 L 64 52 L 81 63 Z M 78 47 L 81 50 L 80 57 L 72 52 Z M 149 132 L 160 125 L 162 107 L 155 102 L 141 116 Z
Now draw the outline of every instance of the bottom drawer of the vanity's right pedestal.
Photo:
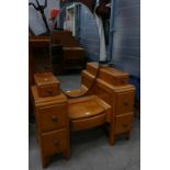
M 122 134 L 125 132 L 131 131 L 132 123 L 133 123 L 133 113 L 124 114 L 124 115 L 117 115 L 115 121 L 115 134 Z

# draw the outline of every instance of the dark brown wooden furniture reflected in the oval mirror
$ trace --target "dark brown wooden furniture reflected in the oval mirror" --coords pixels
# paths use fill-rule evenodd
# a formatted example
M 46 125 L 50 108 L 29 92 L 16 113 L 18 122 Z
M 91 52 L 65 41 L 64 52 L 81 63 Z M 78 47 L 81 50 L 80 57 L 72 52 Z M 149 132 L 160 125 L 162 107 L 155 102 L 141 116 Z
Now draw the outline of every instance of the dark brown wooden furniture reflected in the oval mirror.
M 53 60 L 58 60 L 58 63 L 54 61 L 53 70 L 66 71 L 86 67 L 86 52 L 68 31 L 54 30 L 52 32 L 52 56 Z

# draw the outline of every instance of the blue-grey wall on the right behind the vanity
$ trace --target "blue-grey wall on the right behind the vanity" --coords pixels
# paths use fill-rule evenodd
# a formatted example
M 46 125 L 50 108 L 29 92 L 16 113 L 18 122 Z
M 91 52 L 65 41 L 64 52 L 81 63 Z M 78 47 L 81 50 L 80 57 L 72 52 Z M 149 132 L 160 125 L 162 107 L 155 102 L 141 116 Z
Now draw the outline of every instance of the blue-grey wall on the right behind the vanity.
M 140 77 L 140 0 L 112 2 L 112 61 Z

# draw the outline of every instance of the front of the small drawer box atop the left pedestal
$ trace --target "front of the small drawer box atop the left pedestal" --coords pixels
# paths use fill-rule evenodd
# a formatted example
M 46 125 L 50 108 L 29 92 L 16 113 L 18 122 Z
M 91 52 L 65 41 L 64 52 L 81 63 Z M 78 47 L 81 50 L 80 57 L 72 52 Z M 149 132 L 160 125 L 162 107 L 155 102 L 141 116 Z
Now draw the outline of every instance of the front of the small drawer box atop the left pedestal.
M 38 88 L 39 97 L 53 97 L 59 94 L 59 86 L 44 86 Z

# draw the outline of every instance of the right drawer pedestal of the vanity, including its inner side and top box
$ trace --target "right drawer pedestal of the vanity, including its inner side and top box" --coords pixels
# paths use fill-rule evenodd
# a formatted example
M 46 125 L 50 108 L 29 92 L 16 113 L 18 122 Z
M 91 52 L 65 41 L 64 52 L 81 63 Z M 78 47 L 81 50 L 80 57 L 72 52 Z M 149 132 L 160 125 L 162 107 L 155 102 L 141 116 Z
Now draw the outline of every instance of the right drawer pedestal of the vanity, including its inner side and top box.
M 94 73 L 97 64 L 88 65 L 88 71 Z M 112 106 L 112 114 L 106 117 L 114 128 L 114 139 L 124 134 L 129 138 L 132 123 L 135 87 L 128 84 L 128 73 L 112 67 L 100 67 L 97 79 L 95 93 Z M 111 143 L 114 143 L 113 141 Z

